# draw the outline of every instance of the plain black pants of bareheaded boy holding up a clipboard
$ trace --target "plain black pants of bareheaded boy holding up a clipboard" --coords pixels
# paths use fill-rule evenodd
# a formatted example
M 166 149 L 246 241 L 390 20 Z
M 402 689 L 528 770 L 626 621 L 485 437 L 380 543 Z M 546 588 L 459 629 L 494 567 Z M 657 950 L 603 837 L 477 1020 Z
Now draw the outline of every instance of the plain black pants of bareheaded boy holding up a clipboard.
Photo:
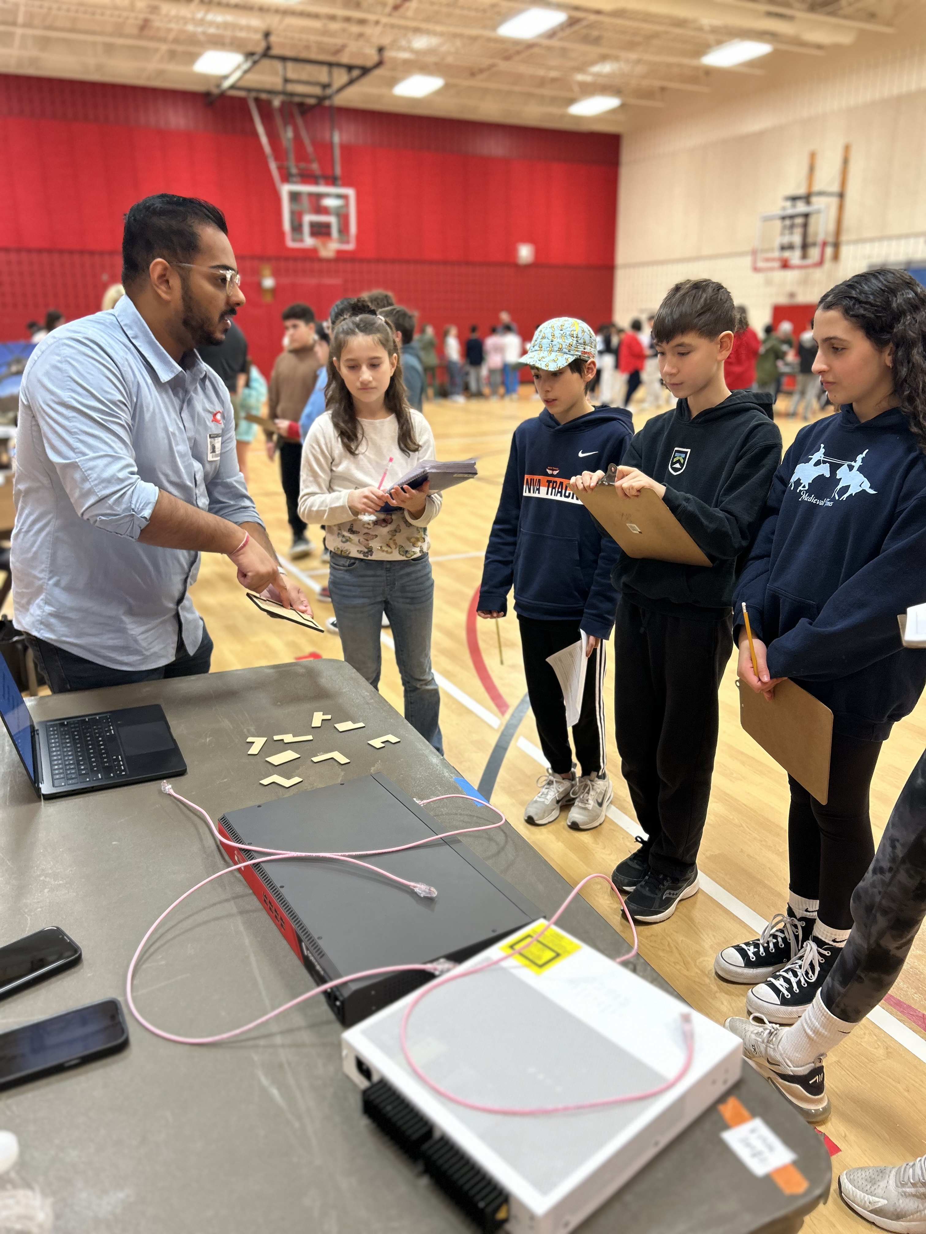
M 621 596 L 614 623 L 614 710 L 621 771 L 648 834 L 649 869 L 684 877 L 698 858 L 714 755 L 717 690 L 732 617 L 654 612 Z

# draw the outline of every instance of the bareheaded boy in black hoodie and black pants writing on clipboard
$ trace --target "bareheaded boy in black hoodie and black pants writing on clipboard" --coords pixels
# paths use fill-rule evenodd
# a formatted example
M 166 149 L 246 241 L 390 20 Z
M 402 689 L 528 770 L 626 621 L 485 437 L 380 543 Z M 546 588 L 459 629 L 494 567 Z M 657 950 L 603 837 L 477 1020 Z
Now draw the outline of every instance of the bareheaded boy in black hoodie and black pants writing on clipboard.
M 782 457 L 772 396 L 724 380 L 737 313 L 720 283 L 677 283 L 653 320 L 659 371 L 677 406 L 627 447 L 617 482 L 653 489 L 710 566 L 619 553 L 615 724 L 621 770 L 648 833 L 614 871 L 637 922 L 662 922 L 698 882 L 717 748 L 717 691 L 733 648 L 731 601 Z M 600 480 L 585 473 L 575 487 Z

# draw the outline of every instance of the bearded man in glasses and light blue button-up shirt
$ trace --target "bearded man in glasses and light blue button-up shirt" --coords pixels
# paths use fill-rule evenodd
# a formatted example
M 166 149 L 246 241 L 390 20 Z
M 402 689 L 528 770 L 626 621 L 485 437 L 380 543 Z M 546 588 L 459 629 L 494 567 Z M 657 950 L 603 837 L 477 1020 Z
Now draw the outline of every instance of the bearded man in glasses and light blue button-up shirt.
M 202 552 L 311 611 L 238 470 L 228 392 L 195 352 L 244 302 L 225 217 L 146 197 L 122 262 L 126 295 L 43 339 L 20 391 L 14 606 L 56 692 L 207 673 L 188 594 Z

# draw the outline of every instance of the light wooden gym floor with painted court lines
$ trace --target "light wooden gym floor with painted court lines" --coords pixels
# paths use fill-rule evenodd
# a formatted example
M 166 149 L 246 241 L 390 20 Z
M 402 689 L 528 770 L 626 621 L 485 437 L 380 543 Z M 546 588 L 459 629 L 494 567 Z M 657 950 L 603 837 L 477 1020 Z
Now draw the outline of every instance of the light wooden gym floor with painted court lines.
M 505 716 L 525 694 L 514 615 L 499 623 L 504 656 L 500 664 L 495 624 L 470 618 L 468 634 L 468 613 L 482 575 L 482 554 L 495 513 L 511 433 L 521 420 L 540 410 L 531 392 L 522 387 L 517 402 L 437 402 L 425 408 L 438 457 L 475 455 L 479 466 L 478 480 L 449 492 L 441 516 L 431 526 L 436 582 L 432 655 L 435 670 L 443 679 L 441 728 L 447 758 L 474 785 L 499 739 Z M 779 401 L 779 410 L 785 402 L 785 399 Z M 643 420 L 641 413 L 635 416 L 637 427 Z M 800 426 L 783 416 L 779 423 L 788 445 Z M 253 444 L 248 465 L 251 491 L 280 555 L 285 557 L 290 537 L 283 494 L 278 471 L 267 460 L 261 441 Z M 310 528 L 310 534 L 320 542 L 317 528 Z M 319 548 L 298 566 L 316 586 L 325 582 Z M 551 561 L 548 569 L 551 585 L 556 586 L 556 563 Z M 331 606 L 317 601 L 311 591 L 310 598 L 323 623 L 332 615 Z M 215 640 L 215 671 L 290 661 L 311 652 L 341 656 L 336 637 L 301 632 L 256 616 L 227 561 L 216 557 L 202 558 L 194 600 Z M 482 674 L 474 663 L 480 655 Z M 777 764 L 740 728 L 733 665 L 731 655 L 721 686 L 720 744 L 699 856 L 703 890 L 685 901 L 668 922 L 641 928 L 640 938 L 641 953 L 682 997 L 719 1022 L 745 1013 L 747 987 L 726 985 L 714 976 L 716 951 L 758 933 L 759 918 L 768 919 L 783 912 L 788 888 L 786 780 Z M 548 827 L 532 828 L 522 822 L 523 806 L 533 796 L 535 781 L 542 771 L 530 711 L 505 755 L 493 793 L 493 801 L 511 823 L 573 885 L 591 871 L 610 871 L 635 848 L 633 811 L 614 745 L 612 689 L 609 668 L 607 756 L 614 807 L 603 827 L 588 833 L 570 832 L 565 827 L 565 811 L 558 823 Z M 399 674 L 394 655 L 385 645 L 380 690 L 401 711 Z M 924 748 L 926 703 L 921 702 L 895 727 L 880 756 L 872 791 L 877 838 Z M 596 908 L 628 937 L 627 926 L 609 897 L 604 884 L 594 884 L 588 891 Z M 875 1013 L 880 1022 L 869 1019 L 862 1024 L 827 1064 L 833 1114 L 824 1130 L 831 1140 L 831 1153 L 836 1154 L 835 1172 L 856 1165 L 905 1161 L 926 1149 L 925 976 L 926 937 L 921 937 L 894 987 L 891 1006 Z M 866 1228 L 870 1227 L 840 1202 L 835 1188 L 830 1203 L 817 1209 L 805 1225 L 810 1234 Z

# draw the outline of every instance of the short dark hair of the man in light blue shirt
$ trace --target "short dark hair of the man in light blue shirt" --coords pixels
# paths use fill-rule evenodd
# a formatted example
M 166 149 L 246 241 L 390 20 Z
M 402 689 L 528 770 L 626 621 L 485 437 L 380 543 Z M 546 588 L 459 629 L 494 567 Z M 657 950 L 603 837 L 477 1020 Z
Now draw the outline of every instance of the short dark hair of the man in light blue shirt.
M 130 207 L 123 222 L 123 286 L 147 274 L 157 257 L 165 262 L 195 262 L 202 227 L 217 227 L 225 236 L 228 234 L 219 206 L 200 197 L 178 197 L 174 193 L 142 197 Z

